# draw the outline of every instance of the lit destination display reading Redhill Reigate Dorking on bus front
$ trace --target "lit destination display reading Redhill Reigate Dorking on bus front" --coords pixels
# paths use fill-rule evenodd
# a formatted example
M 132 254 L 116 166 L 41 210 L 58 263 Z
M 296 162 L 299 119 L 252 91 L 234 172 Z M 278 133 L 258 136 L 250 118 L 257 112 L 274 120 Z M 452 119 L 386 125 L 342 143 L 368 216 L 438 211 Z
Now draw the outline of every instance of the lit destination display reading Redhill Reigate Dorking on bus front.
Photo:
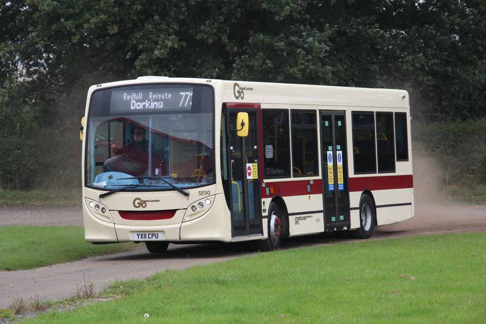
M 113 90 L 110 113 L 189 110 L 193 87 Z

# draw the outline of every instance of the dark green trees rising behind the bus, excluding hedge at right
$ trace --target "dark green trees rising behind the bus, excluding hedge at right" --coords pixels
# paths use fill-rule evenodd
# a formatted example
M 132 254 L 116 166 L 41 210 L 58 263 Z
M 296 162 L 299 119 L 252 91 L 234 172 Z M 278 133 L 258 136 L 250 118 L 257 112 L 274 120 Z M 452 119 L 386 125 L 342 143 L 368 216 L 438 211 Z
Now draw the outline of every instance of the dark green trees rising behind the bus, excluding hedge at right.
M 0 152 L 19 164 L 0 187 L 76 186 L 87 86 L 139 75 L 397 87 L 417 119 L 485 116 L 485 15 L 482 0 L 3 2 L 0 128 L 18 131 Z

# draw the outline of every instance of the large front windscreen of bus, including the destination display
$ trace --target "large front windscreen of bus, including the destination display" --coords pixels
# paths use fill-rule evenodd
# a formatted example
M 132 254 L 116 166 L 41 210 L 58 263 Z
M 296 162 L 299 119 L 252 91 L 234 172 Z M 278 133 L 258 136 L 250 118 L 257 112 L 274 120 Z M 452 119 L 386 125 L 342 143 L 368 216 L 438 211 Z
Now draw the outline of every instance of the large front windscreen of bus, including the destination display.
M 205 85 L 95 91 L 87 121 L 86 185 L 139 191 L 173 190 L 166 181 L 181 188 L 213 184 L 213 98 Z

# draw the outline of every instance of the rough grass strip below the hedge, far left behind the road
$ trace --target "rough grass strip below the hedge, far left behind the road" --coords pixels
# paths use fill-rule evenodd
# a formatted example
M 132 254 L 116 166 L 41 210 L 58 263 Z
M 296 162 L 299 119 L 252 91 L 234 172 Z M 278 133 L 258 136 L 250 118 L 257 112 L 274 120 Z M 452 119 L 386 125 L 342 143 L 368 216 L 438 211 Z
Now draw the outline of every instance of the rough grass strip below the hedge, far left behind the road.
M 0 190 L 0 205 L 81 205 L 81 190 Z

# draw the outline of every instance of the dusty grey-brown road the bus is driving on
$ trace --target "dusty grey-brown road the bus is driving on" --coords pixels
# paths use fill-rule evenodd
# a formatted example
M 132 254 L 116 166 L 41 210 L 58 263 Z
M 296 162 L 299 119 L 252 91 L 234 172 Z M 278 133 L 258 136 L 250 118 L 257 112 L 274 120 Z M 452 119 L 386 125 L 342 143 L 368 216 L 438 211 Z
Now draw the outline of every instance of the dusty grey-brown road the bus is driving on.
M 81 209 L 79 206 L 0 207 L 0 224 L 81 225 Z M 373 239 L 476 231 L 486 235 L 485 205 L 417 206 L 416 217 L 378 227 Z M 293 248 L 348 241 L 329 234 L 288 239 L 283 245 Z M 38 294 L 44 300 L 61 299 L 91 282 L 99 290 L 114 280 L 142 278 L 166 269 L 184 269 L 253 253 L 244 244 L 171 244 L 164 256 L 147 253 L 141 244 L 140 248 L 34 270 L 0 272 L 0 308 L 8 307 L 16 297 L 28 299 Z

